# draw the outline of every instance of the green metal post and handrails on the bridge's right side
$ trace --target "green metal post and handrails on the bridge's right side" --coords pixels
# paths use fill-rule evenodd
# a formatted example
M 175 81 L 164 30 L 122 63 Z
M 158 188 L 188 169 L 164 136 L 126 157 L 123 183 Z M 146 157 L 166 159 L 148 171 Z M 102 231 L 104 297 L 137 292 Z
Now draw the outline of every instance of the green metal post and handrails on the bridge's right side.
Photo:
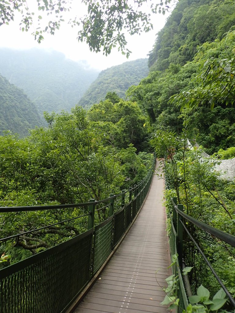
M 183 266 L 183 257 L 184 257 L 184 250 L 183 250 L 183 240 L 184 234 L 187 234 L 191 241 L 195 244 L 196 248 L 202 255 L 203 259 L 205 260 L 206 264 L 212 271 L 214 277 L 217 279 L 218 283 L 221 285 L 222 289 L 225 291 L 230 304 L 233 308 L 235 308 L 235 300 L 232 295 L 229 293 L 225 285 L 223 284 L 222 280 L 219 278 L 215 270 L 213 269 L 212 265 L 210 264 L 209 260 L 206 258 L 205 254 L 200 249 L 199 245 L 196 243 L 194 238 L 189 233 L 187 227 L 185 226 L 184 219 L 193 223 L 195 226 L 199 227 L 200 229 L 204 230 L 206 233 L 211 234 L 212 236 L 222 240 L 223 242 L 229 244 L 232 247 L 235 247 L 235 236 L 231 234 L 225 233 L 217 228 L 214 228 L 206 223 L 203 223 L 196 218 L 189 216 L 183 212 L 183 205 L 177 205 L 177 198 L 171 198 L 171 202 L 173 205 L 172 213 L 168 213 L 168 217 L 170 218 L 171 222 L 171 230 L 170 230 L 170 253 L 171 255 L 178 254 L 178 259 L 176 263 L 173 265 L 172 272 L 175 276 L 178 276 L 178 286 L 177 286 L 177 293 L 179 300 L 179 312 L 186 309 L 188 306 L 188 296 L 187 292 L 185 291 L 184 281 L 182 279 L 182 266 Z M 190 291 L 189 291 L 190 292 Z

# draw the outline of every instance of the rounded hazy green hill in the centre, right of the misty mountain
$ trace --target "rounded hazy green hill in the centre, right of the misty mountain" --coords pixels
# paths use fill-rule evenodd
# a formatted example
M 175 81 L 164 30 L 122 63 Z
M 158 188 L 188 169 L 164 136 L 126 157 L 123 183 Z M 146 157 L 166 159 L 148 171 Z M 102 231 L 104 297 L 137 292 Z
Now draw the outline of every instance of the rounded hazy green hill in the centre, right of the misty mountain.
M 79 104 L 90 107 L 103 100 L 107 92 L 116 92 L 121 98 L 131 85 L 138 85 L 149 74 L 148 59 L 128 61 L 103 70 L 83 95 Z

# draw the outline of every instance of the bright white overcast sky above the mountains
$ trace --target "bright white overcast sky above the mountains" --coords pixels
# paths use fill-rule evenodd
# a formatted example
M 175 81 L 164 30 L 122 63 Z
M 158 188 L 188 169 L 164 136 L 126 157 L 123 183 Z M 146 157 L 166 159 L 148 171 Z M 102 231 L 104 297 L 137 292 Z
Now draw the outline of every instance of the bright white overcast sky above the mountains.
M 33 0 L 29 0 L 33 3 Z M 34 0 L 36 2 L 36 0 Z M 71 17 L 78 15 L 74 12 L 82 12 L 84 8 L 81 8 L 81 3 L 73 0 L 73 10 L 70 13 Z M 35 9 L 32 11 L 37 14 L 42 15 L 41 12 L 38 13 Z M 31 35 L 31 31 L 22 32 L 20 31 L 20 17 L 16 16 L 14 22 L 10 22 L 9 25 L 0 26 L 0 47 L 8 47 L 12 49 L 30 49 L 39 48 L 47 50 L 57 50 L 65 54 L 68 59 L 74 61 L 86 60 L 92 68 L 99 70 L 106 69 L 108 67 L 122 64 L 128 60 L 135 60 L 139 58 L 146 58 L 149 51 L 152 50 L 154 41 L 156 38 L 156 33 L 164 26 L 165 19 L 169 14 L 155 14 L 152 18 L 152 23 L 154 24 L 154 29 L 149 33 L 142 33 L 139 35 L 133 35 L 126 37 L 128 46 L 127 48 L 132 51 L 132 54 L 127 59 L 125 56 L 118 52 L 117 49 L 111 52 L 109 56 L 105 56 L 100 53 L 90 52 L 89 47 L 86 43 L 80 43 L 77 41 L 77 32 L 75 28 L 67 25 L 65 22 L 61 23 L 60 30 L 56 30 L 55 35 L 43 34 L 44 40 L 41 44 L 38 44 Z M 63 18 L 66 18 L 65 13 Z

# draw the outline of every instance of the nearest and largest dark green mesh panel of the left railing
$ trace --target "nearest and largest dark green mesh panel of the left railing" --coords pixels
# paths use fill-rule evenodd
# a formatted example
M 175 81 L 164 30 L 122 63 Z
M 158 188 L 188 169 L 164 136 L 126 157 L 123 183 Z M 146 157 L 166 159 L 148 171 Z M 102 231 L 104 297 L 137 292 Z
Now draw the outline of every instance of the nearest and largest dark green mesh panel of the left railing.
M 64 312 L 90 280 L 92 230 L 0 271 L 1 313 Z

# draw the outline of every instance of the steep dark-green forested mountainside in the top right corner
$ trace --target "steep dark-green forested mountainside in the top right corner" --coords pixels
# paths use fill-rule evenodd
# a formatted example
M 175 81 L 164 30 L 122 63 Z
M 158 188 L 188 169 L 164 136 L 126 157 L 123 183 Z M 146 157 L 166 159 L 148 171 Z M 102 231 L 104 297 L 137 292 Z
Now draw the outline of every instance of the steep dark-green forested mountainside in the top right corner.
M 170 63 L 184 65 L 193 59 L 199 45 L 221 40 L 234 25 L 234 1 L 180 0 L 157 34 L 149 67 L 165 70 Z

